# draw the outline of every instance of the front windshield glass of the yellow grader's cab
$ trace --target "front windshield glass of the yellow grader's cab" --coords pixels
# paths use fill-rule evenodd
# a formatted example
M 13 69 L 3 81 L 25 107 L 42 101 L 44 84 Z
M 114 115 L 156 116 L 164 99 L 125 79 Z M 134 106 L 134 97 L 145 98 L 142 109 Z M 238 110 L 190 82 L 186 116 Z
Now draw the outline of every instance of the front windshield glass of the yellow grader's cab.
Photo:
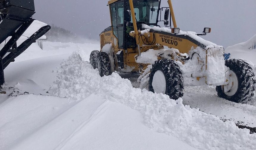
M 146 24 L 156 24 L 158 19 L 158 0 L 133 0 L 133 7 L 137 21 L 143 21 Z M 128 4 L 127 11 L 131 14 Z M 132 18 L 130 18 L 132 22 Z

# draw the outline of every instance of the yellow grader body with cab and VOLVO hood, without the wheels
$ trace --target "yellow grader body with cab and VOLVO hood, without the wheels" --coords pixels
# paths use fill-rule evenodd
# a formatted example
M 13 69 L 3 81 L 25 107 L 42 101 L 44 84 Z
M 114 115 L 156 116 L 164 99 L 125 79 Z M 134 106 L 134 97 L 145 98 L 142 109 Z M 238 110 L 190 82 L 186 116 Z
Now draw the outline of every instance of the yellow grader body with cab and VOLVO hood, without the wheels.
M 171 32 L 166 32 L 166 30 L 159 30 L 161 28 L 151 28 L 153 26 L 158 26 L 157 23 L 160 11 L 167 7 L 160 8 L 160 0 L 153 0 L 150 4 L 149 2 L 151 2 L 151 0 L 110 0 L 108 2 L 110 8 L 111 26 L 100 34 L 100 42 L 101 51 L 106 44 L 112 45 L 113 54 L 111 54 L 111 56 L 115 62 L 115 71 L 136 72 L 143 70 L 143 68 L 149 64 L 137 63 L 136 58 L 140 56 L 142 52 L 148 51 L 149 49 L 163 49 L 164 46 L 167 46 L 170 49 L 178 49 L 178 56 L 184 53 L 189 54 L 191 53 L 192 49 L 196 49 L 197 47 L 203 49 L 205 51 L 203 56 L 203 62 L 205 65 L 204 68 L 202 68 L 202 71 L 207 70 L 207 50 L 209 47 L 189 35 L 179 33 L 174 34 Z M 167 9 L 171 10 L 168 15 L 171 16 L 173 26 L 175 28 L 177 27 L 177 24 L 174 17 L 171 0 L 168 0 L 168 4 L 169 7 Z M 150 7 L 149 10 L 146 10 L 145 8 L 147 6 Z M 142 18 L 140 18 L 141 16 Z M 154 20 L 150 20 L 150 18 L 152 19 L 153 17 L 156 19 L 155 22 Z M 145 23 L 144 21 L 148 22 Z M 148 28 L 145 28 L 145 26 L 141 24 L 148 25 Z M 146 29 L 147 32 L 145 32 Z M 171 29 L 169 30 L 171 31 Z M 219 50 L 220 54 L 224 54 L 223 47 Z M 161 58 L 159 57 L 159 59 Z M 182 64 L 184 64 L 183 61 Z M 196 83 L 195 85 L 204 85 L 205 83 L 211 85 L 211 83 L 207 83 L 207 76 L 204 74 L 200 76 L 193 76 L 193 73 L 191 73 L 191 77 L 194 78 L 191 79 L 193 81 L 199 81 L 204 78 L 203 82 L 200 81 L 200 83 Z M 219 84 L 220 83 L 217 85 Z

